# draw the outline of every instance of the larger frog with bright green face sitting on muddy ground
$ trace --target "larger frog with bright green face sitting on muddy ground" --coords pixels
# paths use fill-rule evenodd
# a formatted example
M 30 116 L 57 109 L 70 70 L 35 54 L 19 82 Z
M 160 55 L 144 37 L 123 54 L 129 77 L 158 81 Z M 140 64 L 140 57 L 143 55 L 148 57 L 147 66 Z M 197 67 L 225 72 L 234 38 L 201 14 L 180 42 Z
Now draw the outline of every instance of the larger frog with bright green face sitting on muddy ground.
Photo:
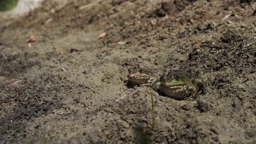
M 198 90 L 205 82 L 200 76 L 174 70 L 160 77 L 159 91 L 169 98 L 176 100 L 195 100 Z

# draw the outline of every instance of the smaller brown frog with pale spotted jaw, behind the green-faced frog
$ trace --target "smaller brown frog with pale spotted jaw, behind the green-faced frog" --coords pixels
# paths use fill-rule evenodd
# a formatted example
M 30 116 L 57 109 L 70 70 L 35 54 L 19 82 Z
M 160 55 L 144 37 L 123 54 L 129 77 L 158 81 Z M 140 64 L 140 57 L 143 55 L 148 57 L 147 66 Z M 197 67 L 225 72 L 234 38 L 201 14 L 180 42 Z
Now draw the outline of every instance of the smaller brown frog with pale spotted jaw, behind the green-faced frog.
M 147 68 L 129 68 L 128 72 L 128 79 L 133 85 L 137 86 L 152 86 L 160 78 L 159 75 Z

